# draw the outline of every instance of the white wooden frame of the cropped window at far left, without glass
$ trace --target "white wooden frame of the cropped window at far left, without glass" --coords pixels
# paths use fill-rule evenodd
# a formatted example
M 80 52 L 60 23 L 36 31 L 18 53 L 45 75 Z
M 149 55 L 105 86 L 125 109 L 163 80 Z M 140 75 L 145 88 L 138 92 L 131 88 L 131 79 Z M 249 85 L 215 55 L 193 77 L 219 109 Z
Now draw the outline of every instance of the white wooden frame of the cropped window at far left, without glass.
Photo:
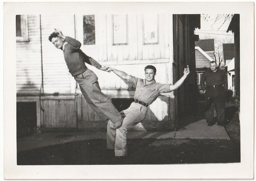
M 20 31 L 21 36 L 16 36 L 16 42 L 29 42 L 28 15 L 20 15 Z

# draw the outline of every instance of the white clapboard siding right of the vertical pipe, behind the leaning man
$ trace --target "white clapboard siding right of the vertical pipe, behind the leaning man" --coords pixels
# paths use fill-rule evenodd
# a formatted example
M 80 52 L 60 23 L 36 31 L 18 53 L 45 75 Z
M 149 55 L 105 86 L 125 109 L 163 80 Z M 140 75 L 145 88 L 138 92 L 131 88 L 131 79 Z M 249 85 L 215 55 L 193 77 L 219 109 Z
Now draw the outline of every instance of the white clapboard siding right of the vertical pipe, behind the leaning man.
M 74 38 L 74 16 L 41 15 L 41 28 L 44 93 L 71 93 L 71 75 L 64 60 L 63 51 L 55 48 L 48 37 L 54 28 L 58 28 L 64 35 Z

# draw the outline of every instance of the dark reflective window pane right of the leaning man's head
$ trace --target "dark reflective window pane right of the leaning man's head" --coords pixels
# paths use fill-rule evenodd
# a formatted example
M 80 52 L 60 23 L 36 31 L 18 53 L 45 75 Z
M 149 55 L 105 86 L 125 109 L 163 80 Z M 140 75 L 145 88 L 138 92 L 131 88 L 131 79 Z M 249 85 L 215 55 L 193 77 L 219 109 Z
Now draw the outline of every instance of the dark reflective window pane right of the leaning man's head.
M 95 16 L 83 17 L 84 45 L 95 45 Z

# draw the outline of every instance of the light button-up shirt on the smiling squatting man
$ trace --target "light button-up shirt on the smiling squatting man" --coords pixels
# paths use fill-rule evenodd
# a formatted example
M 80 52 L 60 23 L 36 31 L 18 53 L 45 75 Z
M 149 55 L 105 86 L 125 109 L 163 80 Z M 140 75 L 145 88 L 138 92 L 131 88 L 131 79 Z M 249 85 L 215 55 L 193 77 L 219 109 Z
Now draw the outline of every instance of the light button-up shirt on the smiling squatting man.
M 160 93 L 168 93 L 170 91 L 171 84 L 157 83 L 155 80 L 151 84 L 145 85 L 146 80 L 140 79 L 130 75 L 130 79 L 127 81 L 136 86 L 134 99 L 151 104 L 157 99 Z

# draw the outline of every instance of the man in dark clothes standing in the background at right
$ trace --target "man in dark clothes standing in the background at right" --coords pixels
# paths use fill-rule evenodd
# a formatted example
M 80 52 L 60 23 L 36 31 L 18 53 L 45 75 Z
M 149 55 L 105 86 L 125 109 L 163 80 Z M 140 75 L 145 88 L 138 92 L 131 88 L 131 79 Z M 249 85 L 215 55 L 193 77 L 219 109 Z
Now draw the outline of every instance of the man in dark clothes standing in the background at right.
M 210 69 L 205 71 L 200 81 L 205 93 L 205 116 L 208 126 L 215 124 L 214 109 L 217 113 L 219 126 L 227 124 L 225 120 L 225 91 L 227 91 L 227 76 L 217 68 L 216 62 L 210 62 Z

